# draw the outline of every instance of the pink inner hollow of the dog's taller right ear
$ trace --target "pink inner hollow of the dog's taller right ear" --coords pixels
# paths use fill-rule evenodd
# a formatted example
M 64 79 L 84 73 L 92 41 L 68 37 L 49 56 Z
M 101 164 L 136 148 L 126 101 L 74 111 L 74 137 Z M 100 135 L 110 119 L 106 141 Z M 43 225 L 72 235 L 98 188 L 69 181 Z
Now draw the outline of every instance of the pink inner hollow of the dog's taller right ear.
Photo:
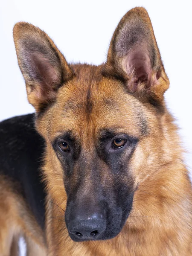
M 139 83 L 145 83 L 148 88 L 154 84 L 151 61 L 145 46 L 137 47 L 137 49 L 129 52 L 122 64 L 124 71 L 130 78 L 128 84 L 131 90 L 136 91 Z

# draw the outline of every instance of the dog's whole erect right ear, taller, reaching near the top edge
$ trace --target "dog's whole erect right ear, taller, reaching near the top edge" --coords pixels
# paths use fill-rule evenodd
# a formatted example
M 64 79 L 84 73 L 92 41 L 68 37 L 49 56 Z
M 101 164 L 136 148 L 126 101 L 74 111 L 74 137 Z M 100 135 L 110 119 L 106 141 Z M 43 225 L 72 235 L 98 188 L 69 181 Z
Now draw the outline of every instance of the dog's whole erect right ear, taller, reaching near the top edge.
M 113 34 L 103 74 L 121 79 L 133 93 L 163 98 L 169 79 L 144 8 L 131 9 L 122 17 Z

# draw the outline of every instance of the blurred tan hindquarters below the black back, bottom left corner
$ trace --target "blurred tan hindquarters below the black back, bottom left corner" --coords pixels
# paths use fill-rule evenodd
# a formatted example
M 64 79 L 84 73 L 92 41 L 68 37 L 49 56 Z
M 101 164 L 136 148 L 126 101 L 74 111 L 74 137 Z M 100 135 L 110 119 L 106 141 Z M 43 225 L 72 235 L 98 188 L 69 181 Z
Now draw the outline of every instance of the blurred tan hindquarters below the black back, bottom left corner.
M 0 175 L 0 256 L 17 256 L 20 236 L 26 236 L 39 247 L 36 254 L 29 255 L 45 256 L 44 234 L 19 191 L 15 183 Z

